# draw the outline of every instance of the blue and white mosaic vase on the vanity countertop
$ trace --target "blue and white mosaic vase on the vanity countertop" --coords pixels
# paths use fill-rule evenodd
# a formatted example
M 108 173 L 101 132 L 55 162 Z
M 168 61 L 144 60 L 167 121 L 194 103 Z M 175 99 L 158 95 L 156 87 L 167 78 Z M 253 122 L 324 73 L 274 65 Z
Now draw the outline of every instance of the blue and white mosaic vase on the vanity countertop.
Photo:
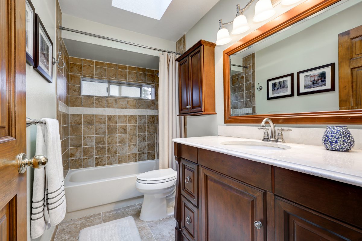
M 322 143 L 327 150 L 349 151 L 354 146 L 354 139 L 345 125 L 327 126 Z

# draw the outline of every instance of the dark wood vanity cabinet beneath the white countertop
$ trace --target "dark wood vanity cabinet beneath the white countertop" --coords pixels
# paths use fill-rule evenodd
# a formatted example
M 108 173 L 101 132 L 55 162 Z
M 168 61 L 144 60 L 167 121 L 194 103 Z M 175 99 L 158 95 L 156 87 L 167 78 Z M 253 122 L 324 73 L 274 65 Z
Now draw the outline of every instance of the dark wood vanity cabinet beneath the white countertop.
M 362 240 L 362 188 L 175 143 L 176 241 Z

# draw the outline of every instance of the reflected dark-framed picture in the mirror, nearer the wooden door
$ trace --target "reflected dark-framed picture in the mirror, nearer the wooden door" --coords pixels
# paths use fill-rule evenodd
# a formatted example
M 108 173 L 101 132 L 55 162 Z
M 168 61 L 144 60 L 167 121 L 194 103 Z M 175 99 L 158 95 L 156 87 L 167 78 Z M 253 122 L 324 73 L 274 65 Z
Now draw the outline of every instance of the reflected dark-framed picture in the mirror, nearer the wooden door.
M 334 63 L 297 73 L 297 95 L 334 91 Z

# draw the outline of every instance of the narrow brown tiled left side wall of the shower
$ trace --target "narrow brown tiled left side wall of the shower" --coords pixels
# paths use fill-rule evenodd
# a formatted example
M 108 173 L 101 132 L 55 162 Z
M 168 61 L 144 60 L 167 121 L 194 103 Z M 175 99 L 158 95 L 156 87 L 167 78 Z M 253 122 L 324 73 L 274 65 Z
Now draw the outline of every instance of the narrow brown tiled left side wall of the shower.
M 65 177 L 69 171 L 69 55 L 63 42 L 62 31 L 58 28 L 59 25 L 62 25 L 62 11 L 60 10 L 58 1 L 56 1 L 56 25 L 56 52 L 62 52 L 59 65 L 62 66 L 63 63 L 65 63 L 64 68 L 56 67 L 56 119 L 59 122 L 63 173 Z M 58 57 L 58 54 L 55 57 Z

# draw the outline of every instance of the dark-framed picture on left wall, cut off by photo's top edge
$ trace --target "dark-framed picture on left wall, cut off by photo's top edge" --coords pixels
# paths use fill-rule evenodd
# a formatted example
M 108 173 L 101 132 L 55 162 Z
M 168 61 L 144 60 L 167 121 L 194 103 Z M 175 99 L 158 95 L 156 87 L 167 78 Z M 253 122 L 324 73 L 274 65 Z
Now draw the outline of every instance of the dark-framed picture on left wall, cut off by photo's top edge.
M 25 52 L 26 63 L 34 66 L 35 56 L 35 8 L 30 0 L 25 0 Z

